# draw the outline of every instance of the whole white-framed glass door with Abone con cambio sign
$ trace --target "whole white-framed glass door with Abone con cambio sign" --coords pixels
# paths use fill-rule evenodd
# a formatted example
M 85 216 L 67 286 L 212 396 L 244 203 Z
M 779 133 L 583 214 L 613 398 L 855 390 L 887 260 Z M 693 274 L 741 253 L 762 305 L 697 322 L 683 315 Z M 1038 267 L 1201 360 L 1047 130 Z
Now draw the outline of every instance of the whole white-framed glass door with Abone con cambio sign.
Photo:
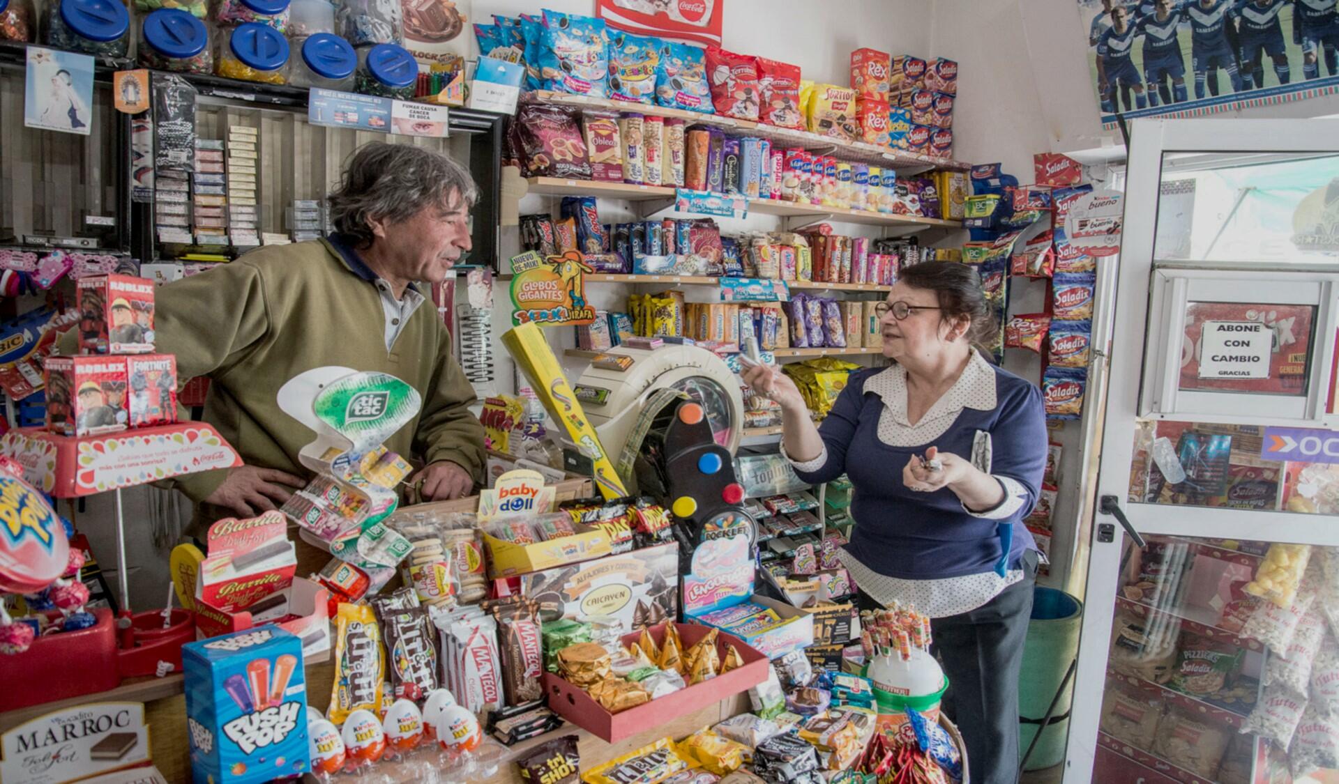
M 1065 781 L 1339 781 L 1339 123 L 1135 120 L 1126 199 Z

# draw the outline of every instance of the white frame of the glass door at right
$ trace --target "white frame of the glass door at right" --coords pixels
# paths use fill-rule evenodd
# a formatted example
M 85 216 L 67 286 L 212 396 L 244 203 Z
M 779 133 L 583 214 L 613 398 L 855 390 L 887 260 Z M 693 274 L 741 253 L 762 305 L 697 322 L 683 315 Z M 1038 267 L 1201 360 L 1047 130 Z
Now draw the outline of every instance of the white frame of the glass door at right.
M 1178 151 L 1339 153 L 1339 120 L 1137 119 L 1130 123 L 1125 234 L 1117 272 L 1110 385 L 1102 428 L 1098 496 L 1114 495 L 1121 499 L 1121 507 L 1139 532 L 1339 546 L 1339 526 L 1327 526 L 1326 520 L 1307 519 L 1307 515 L 1198 507 L 1176 507 L 1173 512 L 1168 506 L 1126 500 L 1134 452 L 1134 420 L 1144 373 L 1162 155 Z M 1332 334 L 1318 336 L 1316 345 L 1323 345 L 1327 340 L 1332 345 Z M 1299 425 L 1295 421 L 1287 424 Z M 1113 607 L 1118 587 L 1117 574 L 1126 539 L 1119 526 L 1115 528 L 1114 542 L 1110 543 L 1097 542 L 1095 531 L 1101 523 L 1115 522 L 1113 516 L 1097 512 L 1091 526 L 1094 538 L 1090 543 L 1086 610 L 1066 747 L 1065 784 L 1090 781 L 1093 776 Z M 1063 666 L 1063 662 L 1056 662 L 1055 666 Z

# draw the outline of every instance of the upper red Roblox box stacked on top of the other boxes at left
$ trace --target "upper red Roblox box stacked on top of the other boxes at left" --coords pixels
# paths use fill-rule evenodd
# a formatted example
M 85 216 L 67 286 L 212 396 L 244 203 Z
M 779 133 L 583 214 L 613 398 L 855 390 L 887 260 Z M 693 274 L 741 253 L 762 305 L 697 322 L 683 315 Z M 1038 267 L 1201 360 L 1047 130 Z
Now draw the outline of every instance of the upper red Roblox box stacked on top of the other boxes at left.
M 154 282 L 116 274 L 80 280 L 79 349 L 86 355 L 154 351 Z

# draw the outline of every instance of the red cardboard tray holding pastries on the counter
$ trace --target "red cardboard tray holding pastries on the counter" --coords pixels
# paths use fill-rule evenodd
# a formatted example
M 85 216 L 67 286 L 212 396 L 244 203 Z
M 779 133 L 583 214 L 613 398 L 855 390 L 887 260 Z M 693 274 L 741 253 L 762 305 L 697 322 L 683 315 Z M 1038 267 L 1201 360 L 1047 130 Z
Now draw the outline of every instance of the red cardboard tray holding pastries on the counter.
M 676 623 L 676 626 L 684 652 L 711 630 L 699 623 Z M 640 634 L 640 631 L 624 634 L 623 644 L 632 645 Z M 664 644 L 664 623 L 651 627 L 651 637 L 657 646 Z M 724 631 L 716 637 L 720 661 L 726 660 L 726 649 L 730 645 L 739 650 L 739 656 L 744 660 L 743 666 L 619 713 L 609 713 L 581 688 L 550 672 L 544 673 L 544 692 L 549 697 L 550 710 L 600 740 L 619 743 L 687 713 L 702 710 L 767 680 L 767 657 Z

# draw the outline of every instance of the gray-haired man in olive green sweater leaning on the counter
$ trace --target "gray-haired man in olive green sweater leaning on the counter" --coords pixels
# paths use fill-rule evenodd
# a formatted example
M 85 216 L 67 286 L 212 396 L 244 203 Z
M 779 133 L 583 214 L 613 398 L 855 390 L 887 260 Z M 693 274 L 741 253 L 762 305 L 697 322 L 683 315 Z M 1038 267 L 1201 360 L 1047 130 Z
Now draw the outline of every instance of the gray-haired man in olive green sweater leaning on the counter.
M 483 476 L 474 391 L 450 333 L 418 284 L 446 278 L 470 249 L 469 173 L 408 144 L 360 147 L 329 194 L 335 233 L 264 248 L 158 289 L 158 349 L 182 379 L 209 376 L 205 420 L 245 466 L 182 476 L 197 523 L 277 508 L 307 484 L 299 451 L 316 433 L 280 411 L 276 393 L 313 368 L 396 376 L 419 391 L 418 417 L 386 447 L 424 467 L 410 478 L 428 500 L 469 495 Z

